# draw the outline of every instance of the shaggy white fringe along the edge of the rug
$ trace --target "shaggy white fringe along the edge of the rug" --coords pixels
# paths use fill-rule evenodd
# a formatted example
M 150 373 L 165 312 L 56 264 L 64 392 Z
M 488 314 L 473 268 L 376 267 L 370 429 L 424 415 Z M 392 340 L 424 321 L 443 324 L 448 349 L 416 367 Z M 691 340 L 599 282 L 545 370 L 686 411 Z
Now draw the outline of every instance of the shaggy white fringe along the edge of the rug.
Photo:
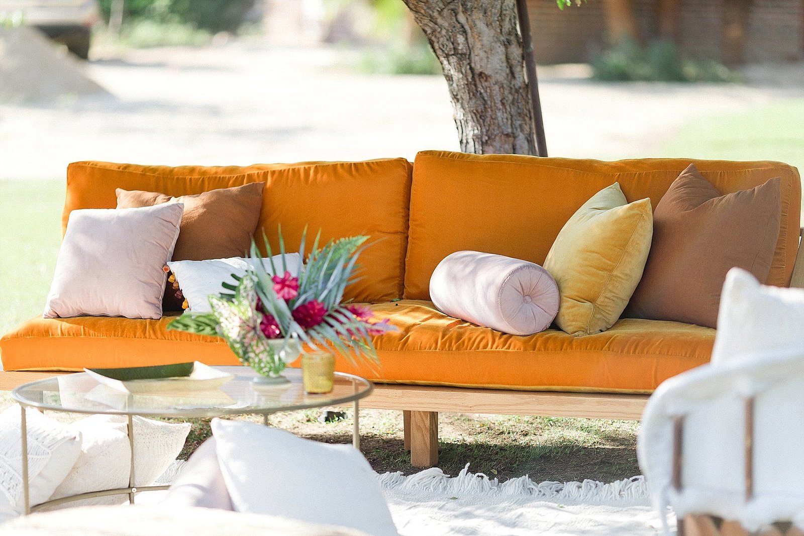
M 394 491 L 447 493 L 456 496 L 494 493 L 502 497 L 522 497 L 579 504 L 649 504 L 645 477 L 641 476 L 604 484 L 591 480 L 536 483 L 525 475 L 501 483 L 497 478 L 491 479 L 483 473 L 470 473 L 469 464 L 466 464 L 457 477 L 450 477 L 437 467 L 425 469 L 408 477 L 401 472 L 384 473 L 377 477 L 379 485 L 383 489 Z

